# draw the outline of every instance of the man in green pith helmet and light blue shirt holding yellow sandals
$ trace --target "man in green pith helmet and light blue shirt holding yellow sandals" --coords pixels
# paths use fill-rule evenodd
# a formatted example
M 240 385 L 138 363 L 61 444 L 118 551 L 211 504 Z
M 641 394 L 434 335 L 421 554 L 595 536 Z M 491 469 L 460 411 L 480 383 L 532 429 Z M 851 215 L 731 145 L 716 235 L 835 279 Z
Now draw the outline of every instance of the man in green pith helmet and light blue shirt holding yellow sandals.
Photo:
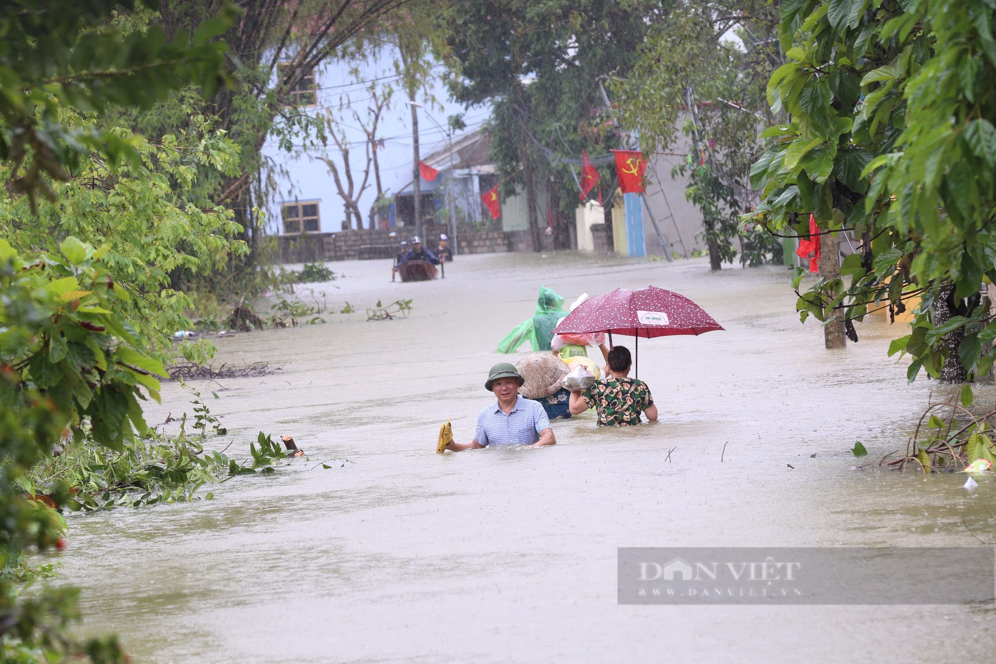
M 492 445 L 524 445 L 531 448 L 555 445 L 557 439 L 543 406 L 519 395 L 523 383 L 525 379 L 514 365 L 499 362 L 491 367 L 484 388 L 493 392 L 498 401 L 477 416 L 474 440 L 470 443 L 452 440 L 447 423 L 443 426 L 444 431 L 440 432 L 436 451 L 480 450 Z

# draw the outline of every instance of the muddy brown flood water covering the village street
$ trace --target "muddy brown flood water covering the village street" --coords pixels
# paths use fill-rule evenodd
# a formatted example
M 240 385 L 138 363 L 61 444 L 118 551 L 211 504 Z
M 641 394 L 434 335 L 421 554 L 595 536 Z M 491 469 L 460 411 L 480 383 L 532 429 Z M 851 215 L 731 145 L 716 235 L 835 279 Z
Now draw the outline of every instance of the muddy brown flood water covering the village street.
M 859 344 L 828 352 L 799 323 L 784 268 L 717 274 L 704 258 L 458 256 L 445 279 L 406 284 L 386 261 L 329 265 L 346 276 L 305 293 L 337 311 L 410 298 L 410 317 L 220 339 L 216 362 L 282 370 L 195 385 L 228 429 L 211 447 L 234 441 L 240 457 L 262 430 L 292 435 L 308 461 L 215 486 L 211 501 L 69 518 L 60 576 L 83 589 L 84 628 L 119 633 L 134 661 L 992 661 L 991 608 L 617 603 L 620 546 L 996 540 L 993 478 L 969 492 L 964 475 L 876 468 L 931 391 L 950 396 L 906 385 L 885 353 L 899 323 L 870 320 Z M 653 284 L 726 331 L 640 340 L 656 425 L 597 429 L 589 412 L 554 422 L 552 448 L 436 455 L 445 419 L 472 437 L 493 401 L 487 370 L 507 357 L 492 351 L 541 284 L 568 302 Z M 149 423 L 192 413 L 175 383 L 153 406 Z M 323 469 L 330 459 L 349 463 Z

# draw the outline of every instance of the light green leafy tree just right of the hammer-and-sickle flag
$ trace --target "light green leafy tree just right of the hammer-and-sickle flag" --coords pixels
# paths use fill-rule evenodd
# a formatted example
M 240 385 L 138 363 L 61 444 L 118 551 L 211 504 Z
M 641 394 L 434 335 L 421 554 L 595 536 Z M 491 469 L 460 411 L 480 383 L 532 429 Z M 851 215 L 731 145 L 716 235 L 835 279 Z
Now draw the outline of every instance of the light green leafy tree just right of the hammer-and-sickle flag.
M 613 87 L 622 100 L 622 124 L 646 152 L 684 147 L 671 171 L 686 175 L 685 197 L 702 212 L 702 233 L 713 269 L 736 256 L 738 215 L 756 202 L 747 185 L 763 149 L 765 83 L 781 64 L 772 37 L 777 11 L 764 0 L 679 0 L 650 29 L 627 76 Z M 737 18 L 738 43 L 724 41 Z M 744 231 L 745 265 L 781 262 L 768 233 Z

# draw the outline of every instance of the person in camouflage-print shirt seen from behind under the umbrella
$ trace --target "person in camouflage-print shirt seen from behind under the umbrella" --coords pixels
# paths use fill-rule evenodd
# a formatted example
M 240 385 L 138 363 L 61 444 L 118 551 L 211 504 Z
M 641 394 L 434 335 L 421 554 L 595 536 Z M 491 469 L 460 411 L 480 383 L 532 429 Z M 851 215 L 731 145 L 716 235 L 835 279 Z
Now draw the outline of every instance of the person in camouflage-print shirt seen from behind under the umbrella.
M 639 415 L 653 422 L 657 419 L 657 407 L 646 384 L 629 378 L 632 358 L 629 349 L 616 346 L 609 351 L 606 377 L 596 381 L 587 390 L 571 392 L 569 408 L 571 415 L 581 415 L 595 407 L 599 426 L 628 427 L 640 424 Z

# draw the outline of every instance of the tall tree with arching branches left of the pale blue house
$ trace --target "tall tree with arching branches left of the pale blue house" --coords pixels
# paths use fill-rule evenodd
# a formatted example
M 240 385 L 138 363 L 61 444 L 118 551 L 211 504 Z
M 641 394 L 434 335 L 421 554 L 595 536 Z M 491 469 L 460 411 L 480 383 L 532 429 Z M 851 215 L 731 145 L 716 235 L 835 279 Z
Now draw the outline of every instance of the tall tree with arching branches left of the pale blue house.
M 217 95 L 201 95 L 196 85 L 173 92 L 147 112 L 124 110 L 122 121 L 144 136 L 192 132 L 191 117 L 203 117 L 225 133 L 237 149 L 233 172 L 205 166 L 197 173 L 202 207 L 224 205 L 242 230 L 234 238 L 248 251 L 232 252 L 224 269 L 210 276 L 186 270 L 173 273 L 177 290 L 196 289 L 230 300 L 236 307 L 272 287 L 273 242 L 263 213 L 276 190 L 279 166 L 263 147 L 275 141 L 291 152 L 327 141 L 324 118 L 310 110 L 318 101 L 315 77 L 359 35 L 409 0 L 243 0 L 242 16 L 222 35 L 233 63 L 231 76 L 241 85 Z M 214 16 L 226 0 L 163 3 L 147 21 L 167 37 L 190 32 Z M 314 142 L 314 144 L 312 144 Z

